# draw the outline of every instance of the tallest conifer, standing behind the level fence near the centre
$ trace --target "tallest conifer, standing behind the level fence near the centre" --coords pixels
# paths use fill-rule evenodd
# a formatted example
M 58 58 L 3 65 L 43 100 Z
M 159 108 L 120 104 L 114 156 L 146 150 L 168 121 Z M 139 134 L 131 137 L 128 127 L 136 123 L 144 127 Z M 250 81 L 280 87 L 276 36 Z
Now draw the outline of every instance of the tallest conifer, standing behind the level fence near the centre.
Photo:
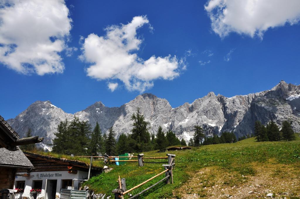
M 140 114 L 140 108 L 137 108 L 137 114 L 132 114 L 131 120 L 134 121 L 131 130 L 131 138 L 135 140 L 134 150 L 137 152 L 147 151 L 150 147 L 149 122 L 145 121 L 145 117 Z

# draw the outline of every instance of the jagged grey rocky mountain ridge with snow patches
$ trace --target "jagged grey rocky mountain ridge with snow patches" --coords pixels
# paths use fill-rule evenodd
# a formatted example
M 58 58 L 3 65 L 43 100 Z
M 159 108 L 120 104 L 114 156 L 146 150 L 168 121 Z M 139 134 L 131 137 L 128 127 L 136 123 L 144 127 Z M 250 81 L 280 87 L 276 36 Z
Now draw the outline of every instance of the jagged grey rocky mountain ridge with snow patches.
M 101 101 L 95 102 L 82 111 L 66 113 L 49 100 L 36 101 L 18 114 L 8 119 L 10 125 L 22 136 L 28 128 L 33 135 L 45 137 L 44 147 L 51 143 L 57 124 L 74 116 L 88 120 L 92 126 L 98 122 L 102 132 L 113 126 L 116 137 L 130 133 L 131 115 L 141 109 L 145 119 L 150 122 L 150 132 L 156 133 L 158 126 L 165 131 L 171 129 L 178 138 L 186 141 L 193 135 L 193 126 L 200 125 L 207 135 L 234 131 L 237 136 L 253 133 L 255 120 L 266 124 L 273 120 L 281 125 L 283 120 L 291 120 L 296 132 L 300 131 L 300 85 L 280 81 L 271 90 L 247 95 L 225 97 L 209 92 L 192 103 L 185 102 L 172 108 L 167 99 L 158 98 L 151 93 L 138 95 L 119 107 L 106 107 Z

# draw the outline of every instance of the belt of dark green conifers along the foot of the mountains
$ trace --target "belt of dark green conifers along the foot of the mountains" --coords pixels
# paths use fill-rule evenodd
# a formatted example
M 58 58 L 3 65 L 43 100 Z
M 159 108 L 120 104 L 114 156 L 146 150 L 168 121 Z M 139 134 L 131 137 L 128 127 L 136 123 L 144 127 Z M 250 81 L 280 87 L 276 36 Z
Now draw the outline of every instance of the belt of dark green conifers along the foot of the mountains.
M 108 130 L 108 134 L 102 134 L 100 125 L 96 123 L 94 129 L 88 121 L 80 121 L 74 117 L 71 121 L 61 121 L 57 126 L 55 138 L 52 140 L 52 151 L 54 153 L 91 155 L 107 154 L 114 156 L 122 153 L 139 153 L 149 150 L 162 150 L 168 146 L 183 145 L 198 147 L 209 144 L 235 143 L 250 135 L 236 138 L 234 132 L 222 132 L 220 136 L 205 136 L 201 126 L 194 126 L 193 138 L 188 144 L 185 140 L 179 140 L 171 130 L 164 132 L 162 127 L 158 127 L 156 136 L 149 133 L 149 122 L 140 113 L 140 109 L 132 114 L 131 133 L 122 133 L 118 141 L 115 138 L 113 127 Z M 288 121 L 284 121 L 281 130 L 273 121 L 263 126 L 256 121 L 254 126 L 254 136 L 257 141 L 280 141 L 295 140 L 295 135 Z M 30 129 L 28 134 L 30 135 Z

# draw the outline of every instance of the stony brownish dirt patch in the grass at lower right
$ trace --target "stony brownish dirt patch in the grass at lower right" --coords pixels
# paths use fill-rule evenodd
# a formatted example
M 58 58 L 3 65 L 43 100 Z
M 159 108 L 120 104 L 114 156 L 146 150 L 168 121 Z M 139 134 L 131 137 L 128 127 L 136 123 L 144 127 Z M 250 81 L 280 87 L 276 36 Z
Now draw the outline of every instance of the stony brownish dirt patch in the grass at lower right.
M 300 198 L 300 163 L 277 164 L 272 160 L 233 167 L 202 168 L 173 191 L 177 198 Z

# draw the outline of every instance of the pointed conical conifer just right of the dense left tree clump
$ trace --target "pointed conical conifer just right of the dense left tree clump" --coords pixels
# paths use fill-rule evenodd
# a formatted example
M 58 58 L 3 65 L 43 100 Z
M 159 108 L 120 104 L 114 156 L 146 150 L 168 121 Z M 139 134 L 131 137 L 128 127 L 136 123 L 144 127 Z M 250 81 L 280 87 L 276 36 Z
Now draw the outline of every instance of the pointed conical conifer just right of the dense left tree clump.
M 104 143 L 101 135 L 101 129 L 99 123 L 96 122 L 96 126 L 91 133 L 90 140 L 90 153 L 91 154 L 102 154 L 104 152 Z

